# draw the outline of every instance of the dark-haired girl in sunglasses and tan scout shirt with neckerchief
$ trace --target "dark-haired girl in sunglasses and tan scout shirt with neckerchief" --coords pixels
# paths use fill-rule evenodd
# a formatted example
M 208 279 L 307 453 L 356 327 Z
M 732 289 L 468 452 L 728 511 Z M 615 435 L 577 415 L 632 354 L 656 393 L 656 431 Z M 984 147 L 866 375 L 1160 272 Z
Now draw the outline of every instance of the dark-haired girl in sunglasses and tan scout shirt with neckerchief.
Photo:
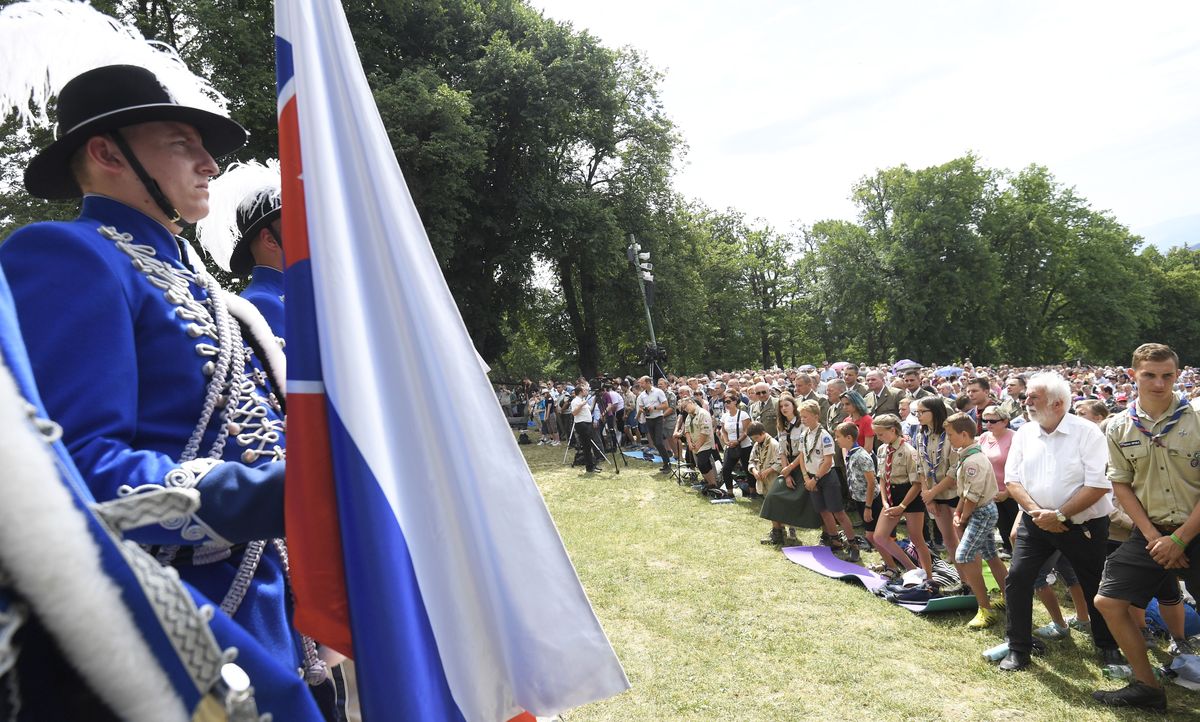
M 953 559 L 959 546 L 959 533 L 954 529 L 954 507 L 959 504 L 954 469 L 959 463 L 959 452 L 947 438 L 946 416 L 946 405 L 940 397 L 926 396 L 917 402 L 917 420 L 920 422 L 917 453 L 920 456 L 922 483 L 925 487 L 920 498 L 929 507 L 929 515 L 937 522 L 946 553 Z

